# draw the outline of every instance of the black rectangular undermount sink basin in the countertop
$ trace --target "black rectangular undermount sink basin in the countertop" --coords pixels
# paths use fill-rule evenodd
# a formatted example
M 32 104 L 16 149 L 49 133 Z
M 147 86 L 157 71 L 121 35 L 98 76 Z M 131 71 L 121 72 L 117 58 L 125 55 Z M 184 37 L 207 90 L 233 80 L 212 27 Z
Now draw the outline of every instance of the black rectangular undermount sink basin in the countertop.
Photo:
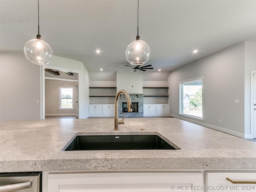
M 158 135 L 81 135 L 65 151 L 76 150 L 176 150 Z

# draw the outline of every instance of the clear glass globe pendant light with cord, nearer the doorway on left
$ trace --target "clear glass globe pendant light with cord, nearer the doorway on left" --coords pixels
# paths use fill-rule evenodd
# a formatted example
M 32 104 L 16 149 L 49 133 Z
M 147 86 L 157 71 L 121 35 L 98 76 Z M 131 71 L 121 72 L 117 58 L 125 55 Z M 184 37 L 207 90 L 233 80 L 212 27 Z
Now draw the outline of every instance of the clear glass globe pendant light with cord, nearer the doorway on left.
M 52 60 L 52 48 L 48 43 L 41 40 L 39 34 L 39 0 L 38 0 L 38 34 L 36 39 L 31 39 L 24 46 L 26 58 L 36 65 L 46 65 Z

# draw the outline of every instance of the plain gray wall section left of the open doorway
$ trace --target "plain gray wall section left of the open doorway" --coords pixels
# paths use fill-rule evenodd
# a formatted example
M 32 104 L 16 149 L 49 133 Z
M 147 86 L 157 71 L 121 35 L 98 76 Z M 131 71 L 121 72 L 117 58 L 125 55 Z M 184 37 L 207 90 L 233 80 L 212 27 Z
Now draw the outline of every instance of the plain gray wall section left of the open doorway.
M 23 52 L 0 52 L 0 120 L 16 119 L 40 119 L 40 66 Z

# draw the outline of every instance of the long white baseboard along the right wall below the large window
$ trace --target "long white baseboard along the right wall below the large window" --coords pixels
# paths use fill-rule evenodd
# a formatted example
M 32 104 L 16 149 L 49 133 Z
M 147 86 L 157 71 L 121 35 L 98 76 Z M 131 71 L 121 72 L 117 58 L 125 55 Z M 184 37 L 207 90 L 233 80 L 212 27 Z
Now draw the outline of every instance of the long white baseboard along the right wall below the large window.
M 171 114 L 171 116 L 175 117 L 177 119 L 181 119 L 181 120 L 188 121 L 188 122 L 191 122 L 191 123 L 194 123 L 194 124 L 197 124 L 197 125 L 201 125 L 201 126 L 204 126 L 204 127 L 207 127 L 207 128 L 211 128 L 211 129 L 214 129 L 214 130 L 217 130 L 217 131 L 220 131 L 220 132 L 224 132 L 224 133 L 227 133 L 227 134 L 230 134 L 230 135 L 234 135 L 234 136 L 241 137 L 241 138 L 246 138 L 246 135 L 243 134 L 243 133 L 239 133 L 239 132 L 236 132 L 236 131 L 228 130 L 228 129 L 225 129 L 225 128 L 222 128 L 222 127 L 206 124 L 204 122 L 199 122 L 199 121 L 196 121 L 196 120 L 184 118 L 184 117 L 173 115 L 173 114 Z

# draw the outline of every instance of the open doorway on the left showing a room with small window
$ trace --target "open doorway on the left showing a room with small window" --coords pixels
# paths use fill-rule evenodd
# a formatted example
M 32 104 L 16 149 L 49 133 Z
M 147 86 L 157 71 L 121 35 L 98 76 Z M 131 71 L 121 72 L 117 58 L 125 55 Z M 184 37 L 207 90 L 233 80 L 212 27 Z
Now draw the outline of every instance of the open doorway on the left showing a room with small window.
M 41 118 L 79 118 L 79 72 L 44 66 L 42 80 Z M 65 87 L 72 93 L 61 92 Z

